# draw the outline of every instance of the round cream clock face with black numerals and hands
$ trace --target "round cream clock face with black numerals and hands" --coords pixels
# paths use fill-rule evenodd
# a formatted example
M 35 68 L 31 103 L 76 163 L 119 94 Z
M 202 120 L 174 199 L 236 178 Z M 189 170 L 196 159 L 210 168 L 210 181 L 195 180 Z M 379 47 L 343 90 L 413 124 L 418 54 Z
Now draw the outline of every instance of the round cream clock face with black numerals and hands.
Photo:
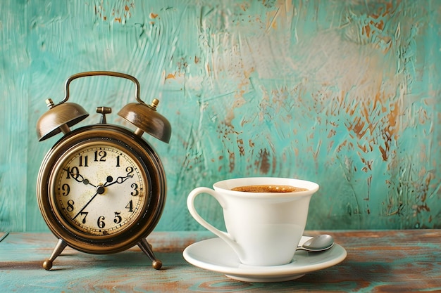
M 132 227 L 149 204 L 139 160 L 118 143 L 77 145 L 58 160 L 50 200 L 70 229 L 111 236 Z

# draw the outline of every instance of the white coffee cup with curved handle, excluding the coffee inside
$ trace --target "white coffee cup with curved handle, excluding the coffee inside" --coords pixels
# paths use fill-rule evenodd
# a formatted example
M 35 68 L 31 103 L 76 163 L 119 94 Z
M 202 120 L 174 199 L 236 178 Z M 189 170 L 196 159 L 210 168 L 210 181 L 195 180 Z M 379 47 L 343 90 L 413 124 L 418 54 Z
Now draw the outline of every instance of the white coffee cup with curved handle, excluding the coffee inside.
M 231 190 L 247 185 L 290 185 L 306 191 L 251 193 Z M 309 200 L 318 184 L 292 178 L 235 178 L 199 187 L 187 197 L 187 207 L 201 226 L 232 247 L 240 262 L 249 266 L 278 266 L 290 263 L 302 238 Z M 221 204 L 227 232 L 204 220 L 194 207 L 197 195 L 212 195 Z

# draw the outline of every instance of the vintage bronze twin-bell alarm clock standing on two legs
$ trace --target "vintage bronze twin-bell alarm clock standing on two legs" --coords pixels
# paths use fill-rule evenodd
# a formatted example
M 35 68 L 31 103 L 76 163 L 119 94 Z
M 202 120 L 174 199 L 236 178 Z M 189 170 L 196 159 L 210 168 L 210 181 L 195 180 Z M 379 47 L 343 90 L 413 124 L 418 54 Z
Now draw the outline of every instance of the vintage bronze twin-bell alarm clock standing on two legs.
M 125 105 L 118 115 L 136 126 L 130 131 L 106 123 L 111 108 L 98 107 L 101 121 L 71 130 L 89 114 L 80 105 L 67 103 L 74 79 L 91 76 L 129 79 L 136 86 L 137 103 Z M 146 132 L 168 143 L 171 127 L 151 105 L 139 98 L 139 82 L 120 72 L 74 74 L 66 81 L 66 98 L 37 122 L 39 141 L 60 132 L 64 136 L 43 159 L 37 178 L 37 200 L 46 224 L 58 243 L 43 267 L 50 270 L 66 246 L 89 254 L 122 252 L 138 245 L 156 269 L 147 235 L 158 223 L 166 200 L 166 174 L 156 152 L 142 138 Z

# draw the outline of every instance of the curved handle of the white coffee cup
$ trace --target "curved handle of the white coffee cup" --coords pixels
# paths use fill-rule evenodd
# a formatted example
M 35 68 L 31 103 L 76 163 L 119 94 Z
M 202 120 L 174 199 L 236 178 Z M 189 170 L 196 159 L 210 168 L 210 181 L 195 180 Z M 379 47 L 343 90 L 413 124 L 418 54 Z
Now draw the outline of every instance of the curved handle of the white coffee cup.
M 211 188 L 206 187 L 198 187 L 194 188 L 194 190 L 192 190 L 192 192 L 187 197 L 187 208 L 190 211 L 190 214 L 198 223 L 201 224 L 201 226 L 204 226 L 204 228 L 211 231 L 216 236 L 221 237 L 221 239 L 227 242 L 228 245 L 230 245 L 230 247 L 232 247 L 232 249 L 234 249 L 237 254 L 241 255 L 242 253 L 240 247 L 237 245 L 237 242 L 235 242 L 235 240 L 232 240 L 230 234 L 223 232 L 218 228 L 215 228 L 213 225 L 211 225 L 211 223 L 205 221 L 196 211 L 196 208 L 194 207 L 194 200 L 196 199 L 197 195 L 200 195 L 201 193 L 207 193 L 213 196 L 219 202 L 219 204 L 221 204 L 221 207 L 225 208 L 225 203 L 223 202 L 221 197 L 218 196 L 216 190 L 212 190 Z

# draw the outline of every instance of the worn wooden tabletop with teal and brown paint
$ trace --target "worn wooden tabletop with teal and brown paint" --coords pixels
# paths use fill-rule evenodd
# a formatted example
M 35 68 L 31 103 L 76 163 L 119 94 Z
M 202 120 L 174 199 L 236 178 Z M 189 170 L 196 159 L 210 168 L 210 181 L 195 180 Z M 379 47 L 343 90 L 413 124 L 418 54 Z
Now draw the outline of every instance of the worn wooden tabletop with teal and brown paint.
M 347 250 L 336 266 L 288 282 L 250 283 L 206 271 L 183 259 L 208 232 L 152 233 L 160 271 L 136 247 L 110 255 L 69 247 L 42 268 L 56 238 L 49 233 L 0 233 L 1 292 L 441 292 L 441 230 L 306 231 L 328 233 Z

